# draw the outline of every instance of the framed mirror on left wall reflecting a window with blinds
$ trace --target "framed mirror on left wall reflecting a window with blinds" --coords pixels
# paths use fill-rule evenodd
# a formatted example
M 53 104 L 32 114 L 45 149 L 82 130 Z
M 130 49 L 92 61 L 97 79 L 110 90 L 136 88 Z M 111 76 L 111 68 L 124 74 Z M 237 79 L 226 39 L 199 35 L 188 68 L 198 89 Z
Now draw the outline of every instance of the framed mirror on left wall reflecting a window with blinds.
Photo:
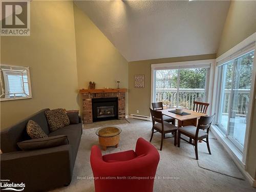
M 28 67 L 1 65 L 1 101 L 32 98 Z

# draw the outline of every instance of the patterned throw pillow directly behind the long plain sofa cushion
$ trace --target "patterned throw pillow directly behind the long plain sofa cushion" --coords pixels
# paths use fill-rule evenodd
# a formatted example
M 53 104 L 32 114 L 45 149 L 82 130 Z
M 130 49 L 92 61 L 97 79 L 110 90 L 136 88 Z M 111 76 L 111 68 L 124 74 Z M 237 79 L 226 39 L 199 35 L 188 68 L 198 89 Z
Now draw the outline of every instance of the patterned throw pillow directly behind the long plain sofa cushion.
M 33 120 L 29 120 L 27 124 L 27 133 L 31 139 L 47 138 L 48 135 L 42 131 L 41 127 Z

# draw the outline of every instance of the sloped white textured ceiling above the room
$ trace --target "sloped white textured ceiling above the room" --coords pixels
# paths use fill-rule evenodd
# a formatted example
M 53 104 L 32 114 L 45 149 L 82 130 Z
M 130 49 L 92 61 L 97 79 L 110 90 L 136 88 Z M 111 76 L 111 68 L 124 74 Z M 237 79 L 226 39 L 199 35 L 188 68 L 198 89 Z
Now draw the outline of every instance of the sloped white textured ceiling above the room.
M 127 61 L 216 53 L 229 1 L 75 1 Z

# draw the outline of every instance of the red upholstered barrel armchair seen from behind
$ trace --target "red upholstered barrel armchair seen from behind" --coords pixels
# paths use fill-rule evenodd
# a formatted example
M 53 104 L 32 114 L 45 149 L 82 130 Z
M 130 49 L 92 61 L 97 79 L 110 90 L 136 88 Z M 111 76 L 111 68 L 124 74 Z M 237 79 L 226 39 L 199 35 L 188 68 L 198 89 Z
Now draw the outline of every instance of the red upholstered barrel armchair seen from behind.
M 96 192 L 153 191 L 159 153 L 143 138 L 133 150 L 101 155 L 97 145 L 92 146 L 91 166 Z

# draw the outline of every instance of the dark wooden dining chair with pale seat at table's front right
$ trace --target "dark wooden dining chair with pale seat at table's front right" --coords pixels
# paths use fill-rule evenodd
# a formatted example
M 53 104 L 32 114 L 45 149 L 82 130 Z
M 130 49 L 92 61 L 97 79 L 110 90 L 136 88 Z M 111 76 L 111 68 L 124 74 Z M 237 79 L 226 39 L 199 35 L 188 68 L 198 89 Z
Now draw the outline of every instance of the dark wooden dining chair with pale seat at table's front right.
M 198 150 L 197 150 L 198 142 L 197 141 L 202 140 L 202 141 L 206 142 L 208 152 L 211 155 L 208 137 L 209 137 L 210 125 L 211 125 L 211 122 L 214 119 L 214 117 L 215 117 L 215 114 L 212 116 L 201 116 L 198 121 L 197 126 L 188 125 L 188 126 L 180 127 L 178 129 L 178 147 L 180 147 L 181 139 L 194 145 L 195 152 L 196 152 L 196 159 L 198 160 Z M 181 135 L 185 135 L 185 136 L 189 137 L 189 141 L 181 138 Z M 192 139 L 194 140 L 193 143 L 191 142 Z M 206 140 L 203 140 L 203 139 L 206 139 Z

